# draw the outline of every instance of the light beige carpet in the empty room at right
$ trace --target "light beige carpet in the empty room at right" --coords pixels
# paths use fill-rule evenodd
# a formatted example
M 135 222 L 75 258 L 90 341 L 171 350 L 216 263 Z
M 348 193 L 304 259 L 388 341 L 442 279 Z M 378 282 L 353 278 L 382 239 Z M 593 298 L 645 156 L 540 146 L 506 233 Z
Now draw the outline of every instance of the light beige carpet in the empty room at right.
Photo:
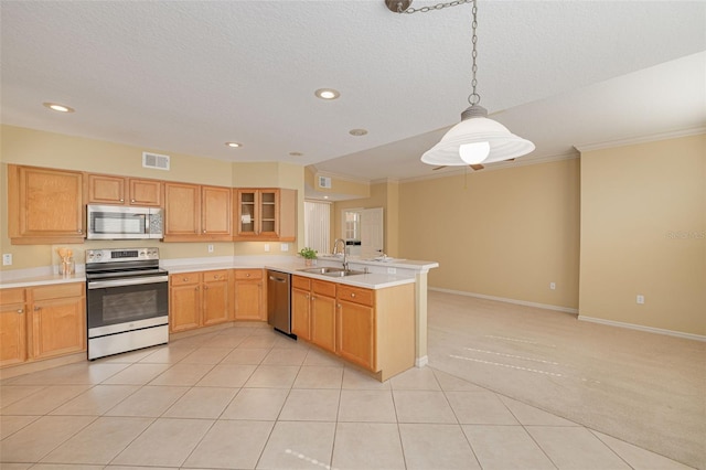
M 429 292 L 429 365 L 706 468 L 706 343 Z

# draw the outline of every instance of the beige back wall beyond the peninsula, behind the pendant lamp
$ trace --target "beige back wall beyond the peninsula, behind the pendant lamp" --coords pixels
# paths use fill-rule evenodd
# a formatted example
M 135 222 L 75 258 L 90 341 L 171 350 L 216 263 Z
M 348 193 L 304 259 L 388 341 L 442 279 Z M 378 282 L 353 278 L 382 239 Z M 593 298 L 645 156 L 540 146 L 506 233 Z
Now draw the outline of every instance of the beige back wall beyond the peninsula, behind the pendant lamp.
M 579 160 L 404 183 L 399 234 L 429 287 L 576 309 Z

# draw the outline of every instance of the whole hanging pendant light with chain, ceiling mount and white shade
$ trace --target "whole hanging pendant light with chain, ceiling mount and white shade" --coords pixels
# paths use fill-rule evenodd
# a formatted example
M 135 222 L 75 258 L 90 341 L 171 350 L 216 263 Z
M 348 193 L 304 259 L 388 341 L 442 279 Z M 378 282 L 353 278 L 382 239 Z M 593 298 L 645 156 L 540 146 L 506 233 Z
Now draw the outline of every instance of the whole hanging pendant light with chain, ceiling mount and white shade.
M 475 73 L 478 72 L 478 65 L 475 63 L 478 57 L 478 51 L 475 47 L 478 43 L 478 35 L 475 34 L 475 30 L 478 29 L 477 0 L 461 0 L 451 3 L 440 3 L 437 7 L 424 7 L 419 10 L 409 8 L 410 3 L 411 1 L 409 0 L 405 0 L 404 2 L 400 0 L 386 0 L 387 8 L 391 11 L 396 11 L 398 13 L 440 10 L 441 8 L 458 6 L 461 3 L 473 4 L 473 79 L 471 81 L 473 89 L 468 97 L 468 103 L 471 106 L 461 113 L 461 122 L 449 129 L 439 143 L 427 150 L 421 156 L 421 161 L 434 165 L 460 167 L 512 160 L 533 151 L 534 143 L 530 140 L 523 139 L 522 137 L 515 136 L 502 124 L 488 118 L 488 110 L 479 105 L 481 97 L 475 90 L 478 85 L 478 81 L 475 78 Z

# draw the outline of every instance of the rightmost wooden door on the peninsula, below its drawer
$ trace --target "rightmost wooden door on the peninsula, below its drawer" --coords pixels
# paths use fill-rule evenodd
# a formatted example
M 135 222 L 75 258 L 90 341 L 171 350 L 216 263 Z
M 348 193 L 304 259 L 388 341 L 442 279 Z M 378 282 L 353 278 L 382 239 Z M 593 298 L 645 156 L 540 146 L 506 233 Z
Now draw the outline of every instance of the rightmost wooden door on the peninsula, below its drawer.
M 375 309 L 339 300 L 336 352 L 343 359 L 376 372 Z

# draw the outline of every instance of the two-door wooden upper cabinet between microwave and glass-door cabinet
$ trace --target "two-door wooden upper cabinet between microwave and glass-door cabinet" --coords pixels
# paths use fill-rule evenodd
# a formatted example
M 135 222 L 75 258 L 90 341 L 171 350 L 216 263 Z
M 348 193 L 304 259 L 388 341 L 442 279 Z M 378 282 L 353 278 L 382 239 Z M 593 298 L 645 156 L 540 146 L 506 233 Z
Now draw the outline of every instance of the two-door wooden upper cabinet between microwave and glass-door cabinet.
M 229 242 L 231 189 L 164 183 L 164 242 Z

